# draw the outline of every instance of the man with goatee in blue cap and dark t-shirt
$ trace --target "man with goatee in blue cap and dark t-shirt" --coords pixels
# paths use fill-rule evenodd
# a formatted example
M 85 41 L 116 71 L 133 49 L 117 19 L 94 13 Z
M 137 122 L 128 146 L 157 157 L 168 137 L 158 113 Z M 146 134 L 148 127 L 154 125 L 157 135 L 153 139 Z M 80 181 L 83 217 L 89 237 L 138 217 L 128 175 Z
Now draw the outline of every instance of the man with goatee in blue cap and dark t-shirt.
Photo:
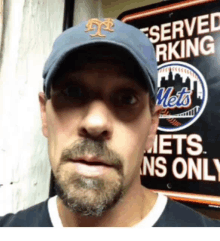
M 91 19 L 55 41 L 39 93 L 57 196 L 0 226 L 220 226 L 143 187 L 140 166 L 158 127 L 157 63 L 149 39 Z

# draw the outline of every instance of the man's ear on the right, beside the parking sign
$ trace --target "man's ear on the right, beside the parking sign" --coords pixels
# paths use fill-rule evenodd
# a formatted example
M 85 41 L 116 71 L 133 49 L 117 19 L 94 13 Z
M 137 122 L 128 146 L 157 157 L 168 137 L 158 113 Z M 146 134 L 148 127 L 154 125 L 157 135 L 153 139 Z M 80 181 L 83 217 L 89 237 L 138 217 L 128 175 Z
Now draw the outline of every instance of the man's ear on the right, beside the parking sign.
M 154 144 L 154 139 L 157 133 L 157 127 L 159 125 L 159 115 L 162 109 L 163 108 L 161 106 L 155 106 L 154 113 L 152 114 L 152 117 L 151 117 L 151 128 L 149 130 L 149 134 L 148 134 L 148 138 L 145 146 L 146 151 L 151 149 Z

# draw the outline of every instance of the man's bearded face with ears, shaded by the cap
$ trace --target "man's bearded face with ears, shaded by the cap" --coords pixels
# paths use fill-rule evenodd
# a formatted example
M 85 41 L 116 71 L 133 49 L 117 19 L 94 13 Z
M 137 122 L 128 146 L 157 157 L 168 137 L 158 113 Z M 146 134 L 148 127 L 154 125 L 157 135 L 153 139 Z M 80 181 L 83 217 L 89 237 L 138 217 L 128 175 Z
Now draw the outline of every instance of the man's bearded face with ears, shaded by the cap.
M 46 104 L 40 94 L 58 195 L 73 212 L 100 216 L 140 185 L 158 114 L 148 93 L 112 62 L 88 63 L 61 79 Z

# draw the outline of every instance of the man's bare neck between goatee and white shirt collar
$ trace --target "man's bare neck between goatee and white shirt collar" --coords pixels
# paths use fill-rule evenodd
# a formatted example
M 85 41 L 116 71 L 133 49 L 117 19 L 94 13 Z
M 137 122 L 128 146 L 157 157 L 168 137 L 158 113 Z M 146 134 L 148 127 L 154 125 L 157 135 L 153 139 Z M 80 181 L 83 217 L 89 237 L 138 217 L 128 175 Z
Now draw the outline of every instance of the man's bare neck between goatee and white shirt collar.
M 128 191 L 114 208 L 101 217 L 83 217 L 72 213 L 58 197 L 57 207 L 64 227 L 132 227 L 144 219 L 153 208 L 157 194 L 141 186 Z

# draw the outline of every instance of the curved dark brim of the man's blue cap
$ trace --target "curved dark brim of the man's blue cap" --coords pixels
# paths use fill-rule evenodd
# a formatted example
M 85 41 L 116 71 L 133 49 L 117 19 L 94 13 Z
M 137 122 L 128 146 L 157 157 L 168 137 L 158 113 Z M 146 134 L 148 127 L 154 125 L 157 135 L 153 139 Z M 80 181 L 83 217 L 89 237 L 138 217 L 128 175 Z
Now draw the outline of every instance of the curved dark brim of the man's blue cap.
M 59 53 L 57 55 L 59 55 Z M 133 66 L 133 69 L 136 72 L 134 74 L 137 75 L 139 84 L 142 88 L 149 91 L 150 96 L 155 101 L 155 87 L 152 84 L 153 81 L 146 66 L 143 65 L 144 61 L 142 61 L 138 54 L 133 50 L 128 49 L 123 44 L 109 40 L 106 42 L 93 41 L 92 43 L 84 43 L 83 45 L 79 45 L 77 47 L 74 46 L 72 49 L 68 48 L 63 51 L 62 55 L 56 56 L 57 61 L 52 64 L 45 79 L 44 91 L 47 98 L 50 99 L 52 81 L 56 79 L 58 75 L 65 72 L 69 67 L 74 68 L 74 65 L 79 66 L 80 64 L 84 64 L 86 61 L 91 61 L 91 59 L 101 60 L 105 57 L 114 57 L 118 60 L 124 61 L 124 66 L 130 71 L 131 67 Z

